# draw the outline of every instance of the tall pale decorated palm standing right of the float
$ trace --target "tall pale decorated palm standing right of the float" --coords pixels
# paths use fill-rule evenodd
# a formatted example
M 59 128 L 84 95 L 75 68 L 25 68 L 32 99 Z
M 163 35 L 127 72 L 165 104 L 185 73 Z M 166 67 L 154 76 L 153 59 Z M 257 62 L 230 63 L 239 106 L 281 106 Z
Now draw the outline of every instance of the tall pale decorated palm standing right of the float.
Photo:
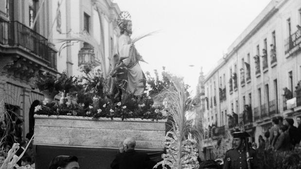
M 158 100 L 167 101 L 169 115 L 173 118 L 172 131 L 167 132 L 165 136 L 165 148 L 167 154 L 163 154 L 163 161 L 155 167 L 165 165 L 171 169 L 197 169 L 198 168 L 198 145 L 197 139 L 201 135 L 201 130 L 192 126 L 190 121 L 186 120 L 185 113 L 191 109 L 191 102 L 187 98 L 184 83 L 181 78 L 173 77 L 173 86 L 165 89 L 156 97 Z M 189 135 L 194 137 L 189 138 Z

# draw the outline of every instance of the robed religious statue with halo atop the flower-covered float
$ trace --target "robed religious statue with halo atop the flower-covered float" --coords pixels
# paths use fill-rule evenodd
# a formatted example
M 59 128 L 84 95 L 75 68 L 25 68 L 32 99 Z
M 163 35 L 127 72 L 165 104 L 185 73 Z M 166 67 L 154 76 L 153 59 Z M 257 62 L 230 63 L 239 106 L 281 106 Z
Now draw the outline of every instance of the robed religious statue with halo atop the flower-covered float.
M 120 68 L 123 67 L 124 70 L 127 71 L 125 74 L 127 77 L 123 76 L 127 82 L 125 90 L 135 96 L 139 96 L 144 92 L 145 85 L 143 80 L 145 79 L 145 75 L 139 64 L 139 61 L 143 61 L 142 56 L 137 52 L 136 47 L 130 38 L 132 34 L 130 14 L 128 12 L 122 12 L 119 15 L 117 24 L 120 28 L 121 35 L 118 39 L 117 51 L 114 55 L 116 58 L 112 63 L 113 70 L 111 70 L 110 75 L 113 77 L 118 70 L 122 73 L 123 71 L 120 70 Z

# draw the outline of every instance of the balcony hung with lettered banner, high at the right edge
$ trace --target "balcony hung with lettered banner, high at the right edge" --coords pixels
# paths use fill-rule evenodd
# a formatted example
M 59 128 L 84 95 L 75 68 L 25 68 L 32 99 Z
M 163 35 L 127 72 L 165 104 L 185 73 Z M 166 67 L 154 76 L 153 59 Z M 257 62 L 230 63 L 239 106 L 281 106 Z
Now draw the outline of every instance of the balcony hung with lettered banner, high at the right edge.
M 295 33 L 290 35 L 286 40 L 285 40 L 285 54 L 292 55 L 296 52 L 301 51 L 301 28 L 299 28 Z

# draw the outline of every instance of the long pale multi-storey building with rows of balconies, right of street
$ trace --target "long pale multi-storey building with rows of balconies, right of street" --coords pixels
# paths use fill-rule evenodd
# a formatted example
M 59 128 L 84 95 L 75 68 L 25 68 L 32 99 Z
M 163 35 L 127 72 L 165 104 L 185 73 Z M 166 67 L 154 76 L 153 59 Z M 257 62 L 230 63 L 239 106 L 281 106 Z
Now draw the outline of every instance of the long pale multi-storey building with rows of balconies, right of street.
M 271 118 L 301 115 L 301 1 L 272 0 L 206 76 L 204 119 L 207 158 L 236 128 L 259 135 Z M 228 132 L 229 131 L 229 132 Z

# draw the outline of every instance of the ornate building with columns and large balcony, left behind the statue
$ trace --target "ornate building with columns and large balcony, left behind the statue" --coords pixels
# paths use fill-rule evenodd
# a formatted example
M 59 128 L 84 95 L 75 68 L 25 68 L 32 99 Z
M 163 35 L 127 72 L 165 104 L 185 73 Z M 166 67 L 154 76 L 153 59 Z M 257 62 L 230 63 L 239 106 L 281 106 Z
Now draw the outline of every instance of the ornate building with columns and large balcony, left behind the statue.
M 25 137 L 33 132 L 31 107 L 44 98 L 32 77 L 43 71 L 80 74 L 78 53 L 84 43 L 57 41 L 69 37 L 70 32 L 86 31 L 102 44 L 108 68 L 120 33 L 116 24 L 119 13 L 111 0 L 0 0 L 1 121 L 3 112 L 16 114 L 24 121 Z M 99 66 L 95 56 L 93 64 Z

